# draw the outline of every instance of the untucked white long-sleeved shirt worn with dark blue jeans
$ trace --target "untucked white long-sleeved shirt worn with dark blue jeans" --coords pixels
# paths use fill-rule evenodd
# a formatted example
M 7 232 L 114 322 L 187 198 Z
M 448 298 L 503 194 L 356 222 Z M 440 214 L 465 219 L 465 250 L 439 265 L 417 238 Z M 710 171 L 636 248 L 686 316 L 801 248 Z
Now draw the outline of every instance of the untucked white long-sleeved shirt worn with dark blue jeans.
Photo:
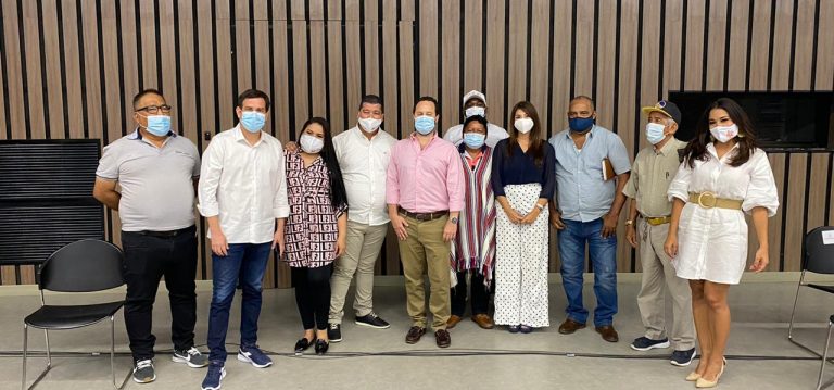
M 263 131 L 250 146 L 241 131 L 240 126 L 223 131 L 205 149 L 198 209 L 205 217 L 219 215 L 229 243 L 269 242 L 275 218 L 290 215 L 283 149 Z

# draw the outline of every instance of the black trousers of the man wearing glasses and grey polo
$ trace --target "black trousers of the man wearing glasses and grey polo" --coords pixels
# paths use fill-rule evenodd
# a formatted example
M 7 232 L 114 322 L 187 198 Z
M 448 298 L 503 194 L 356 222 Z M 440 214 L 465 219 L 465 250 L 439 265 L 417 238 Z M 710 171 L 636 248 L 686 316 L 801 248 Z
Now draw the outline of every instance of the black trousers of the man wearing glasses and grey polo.
M 197 236 L 191 226 L 172 237 L 122 231 L 125 251 L 125 326 L 134 360 L 153 357 L 156 337 L 151 332 L 153 302 L 160 279 L 170 300 L 170 339 L 177 350 L 194 345 L 197 322 Z

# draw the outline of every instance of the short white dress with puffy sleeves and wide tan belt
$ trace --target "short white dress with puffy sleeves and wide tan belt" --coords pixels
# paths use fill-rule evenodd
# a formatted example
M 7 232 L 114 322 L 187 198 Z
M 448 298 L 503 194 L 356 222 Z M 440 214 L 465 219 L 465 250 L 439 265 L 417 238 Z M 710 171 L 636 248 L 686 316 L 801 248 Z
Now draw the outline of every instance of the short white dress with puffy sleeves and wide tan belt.
M 669 186 L 669 200 L 686 202 L 678 225 L 678 256 L 673 259 L 678 277 L 738 284 L 747 263 L 747 222 L 745 213 L 755 207 L 773 216 L 779 194 L 768 155 L 761 149 L 751 151 L 741 166 L 730 166 L 738 144 L 718 159 L 712 143 L 707 146 L 707 161 L 684 162 Z M 705 209 L 690 202 L 690 192 L 710 191 L 716 198 L 742 200 L 742 210 Z

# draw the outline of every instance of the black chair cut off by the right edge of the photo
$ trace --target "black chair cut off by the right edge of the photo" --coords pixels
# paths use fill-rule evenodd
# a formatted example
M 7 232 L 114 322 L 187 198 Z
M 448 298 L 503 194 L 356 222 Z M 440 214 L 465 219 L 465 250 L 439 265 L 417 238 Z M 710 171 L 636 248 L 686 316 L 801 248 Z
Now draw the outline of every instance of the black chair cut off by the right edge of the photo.
M 827 293 L 834 293 L 834 285 L 807 284 L 805 281 L 805 276 L 809 272 L 814 274 L 834 274 L 834 242 L 831 240 L 823 240 L 823 234 L 834 235 L 834 226 L 821 226 L 805 235 L 805 241 L 803 242 L 803 273 L 799 276 L 799 285 L 796 287 L 794 309 L 791 311 L 791 324 L 787 327 L 787 339 L 817 356 L 822 355 L 794 339 L 794 317 L 796 315 L 796 305 L 799 301 L 799 290 L 803 286 Z M 825 241 L 829 241 L 830 243 L 826 244 Z M 827 344 L 825 345 L 825 351 L 823 353 L 827 353 Z

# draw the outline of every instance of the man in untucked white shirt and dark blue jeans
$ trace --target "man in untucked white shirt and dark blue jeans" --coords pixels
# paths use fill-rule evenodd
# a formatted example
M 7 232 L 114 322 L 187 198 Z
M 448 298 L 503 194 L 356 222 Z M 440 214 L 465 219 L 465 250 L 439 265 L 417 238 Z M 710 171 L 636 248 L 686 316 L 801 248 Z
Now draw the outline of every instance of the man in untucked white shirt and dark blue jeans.
M 236 112 L 238 126 L 215 136 L 203 153 L 198 189 L 200 214 L 208 222 L 214 282 L 203 390 L 219 389 L 226 375 L 226 331 L 238 281 L 243 290 L 238 360 L 257 368 L 273 364 L 257 348 L 257 318 L 269 253 L 276 247 L 283 251 L 290 213 L 283 152 L 280 141 L 261 130 L 269 113 L 266 93 L 244 91 Z

